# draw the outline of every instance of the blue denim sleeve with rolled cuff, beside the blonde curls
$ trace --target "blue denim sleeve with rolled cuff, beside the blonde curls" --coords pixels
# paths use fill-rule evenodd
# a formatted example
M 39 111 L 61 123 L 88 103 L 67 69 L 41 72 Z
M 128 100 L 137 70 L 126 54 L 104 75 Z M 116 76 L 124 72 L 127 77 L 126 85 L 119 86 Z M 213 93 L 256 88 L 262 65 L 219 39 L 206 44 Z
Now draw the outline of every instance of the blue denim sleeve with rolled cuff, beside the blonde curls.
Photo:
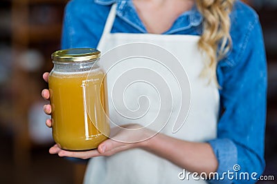
M 222 113 L 217 139 L 208 143 L 219 165 L 210 183 L 256 183 L 265 167 L 267 66 L 258 18 L 244 35 L 233 45 L 240 48 L 235 65 L 217 67 Z

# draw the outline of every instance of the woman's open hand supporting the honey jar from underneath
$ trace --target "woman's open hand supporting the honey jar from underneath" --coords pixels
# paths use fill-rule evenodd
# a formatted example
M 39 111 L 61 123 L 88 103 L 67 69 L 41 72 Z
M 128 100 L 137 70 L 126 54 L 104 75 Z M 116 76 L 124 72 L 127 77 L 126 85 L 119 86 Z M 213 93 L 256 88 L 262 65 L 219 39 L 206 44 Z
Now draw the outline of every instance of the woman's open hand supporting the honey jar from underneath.
M 125 125 L 123 128 L 116 128 L 111 130 L 114 133 L 112 139 L 107 139 L 98 145 L 96 150 L 89 150 L 84 152 L 73 152 L 62 150 L 58 145 L 54 145 L 50 148 L 51 154 L 58 154 L 59 156 L 74 157 L 79 159 L 89 159 L 96 156 L 111 156 L 118 152 L 130 150 L 136 147 L 143 147 L 152 133 L 150 130 L 141 130 L 141 125 Z M 128 131 L 129 129 L 135 129 L 136 131 Z M 139 140 L 139 141 L 115 141 L 115 140 Z M 144 140 L 144 141 L 143 141 Z M 131 142 L 131 143 L 129 143 Z

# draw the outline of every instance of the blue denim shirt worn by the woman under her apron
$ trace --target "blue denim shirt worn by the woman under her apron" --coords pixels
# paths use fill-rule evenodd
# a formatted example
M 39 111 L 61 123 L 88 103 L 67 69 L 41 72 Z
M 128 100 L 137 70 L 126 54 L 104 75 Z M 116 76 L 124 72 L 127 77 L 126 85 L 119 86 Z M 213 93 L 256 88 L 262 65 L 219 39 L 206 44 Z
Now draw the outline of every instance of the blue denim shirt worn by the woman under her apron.
M 62 48 L 96 48 L 112 3 L 118 3 L 118 10 L 111 32 L 147 33 L 132 0 L 71 0 L 64 14 Z M 217 173 L 220 178 L 224 176 L 224 181 L 209 182 L 255 183 L 254 178 L 258 179 L 265 167 L 265 48 L 256 12 L 235 1 L 230 17 L 233 47 L 217 64 L 221 86 L 217 139 L 207 141 L 217 157 Z M 201 35 L 202 30 L 203 17 L 194 6 L 163 34 Z M 233 175 L 228 176 L 228 172 Z M 246 172 L 249 179 L 243 179 Z

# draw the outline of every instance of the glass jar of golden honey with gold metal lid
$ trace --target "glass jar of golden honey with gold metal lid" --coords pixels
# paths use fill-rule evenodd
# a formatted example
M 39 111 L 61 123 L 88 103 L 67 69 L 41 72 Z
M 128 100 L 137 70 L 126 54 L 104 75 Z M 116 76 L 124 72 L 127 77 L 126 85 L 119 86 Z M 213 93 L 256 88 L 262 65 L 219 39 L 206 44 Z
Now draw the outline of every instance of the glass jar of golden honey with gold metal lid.
M 109 136 L 107 85 L 100 52 L 58 50 L 48 83 L 53 139 L 64 150 L 91 150 Z

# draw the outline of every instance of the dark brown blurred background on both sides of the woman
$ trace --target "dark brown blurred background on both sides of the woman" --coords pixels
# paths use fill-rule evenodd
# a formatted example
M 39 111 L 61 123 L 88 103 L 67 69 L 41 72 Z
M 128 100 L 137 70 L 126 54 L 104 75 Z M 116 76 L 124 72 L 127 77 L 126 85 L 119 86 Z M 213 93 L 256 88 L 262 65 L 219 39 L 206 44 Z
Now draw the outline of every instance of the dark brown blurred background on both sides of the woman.
M 0 1 L 0 183 L 82 183 L 85 162 L 48 154 L 53 145 L 42 74 L 60 49 L 66 0 Z M 268 61 L 265 175 L 277 183 L 277 0 L 247 1 L 260 15 Z

